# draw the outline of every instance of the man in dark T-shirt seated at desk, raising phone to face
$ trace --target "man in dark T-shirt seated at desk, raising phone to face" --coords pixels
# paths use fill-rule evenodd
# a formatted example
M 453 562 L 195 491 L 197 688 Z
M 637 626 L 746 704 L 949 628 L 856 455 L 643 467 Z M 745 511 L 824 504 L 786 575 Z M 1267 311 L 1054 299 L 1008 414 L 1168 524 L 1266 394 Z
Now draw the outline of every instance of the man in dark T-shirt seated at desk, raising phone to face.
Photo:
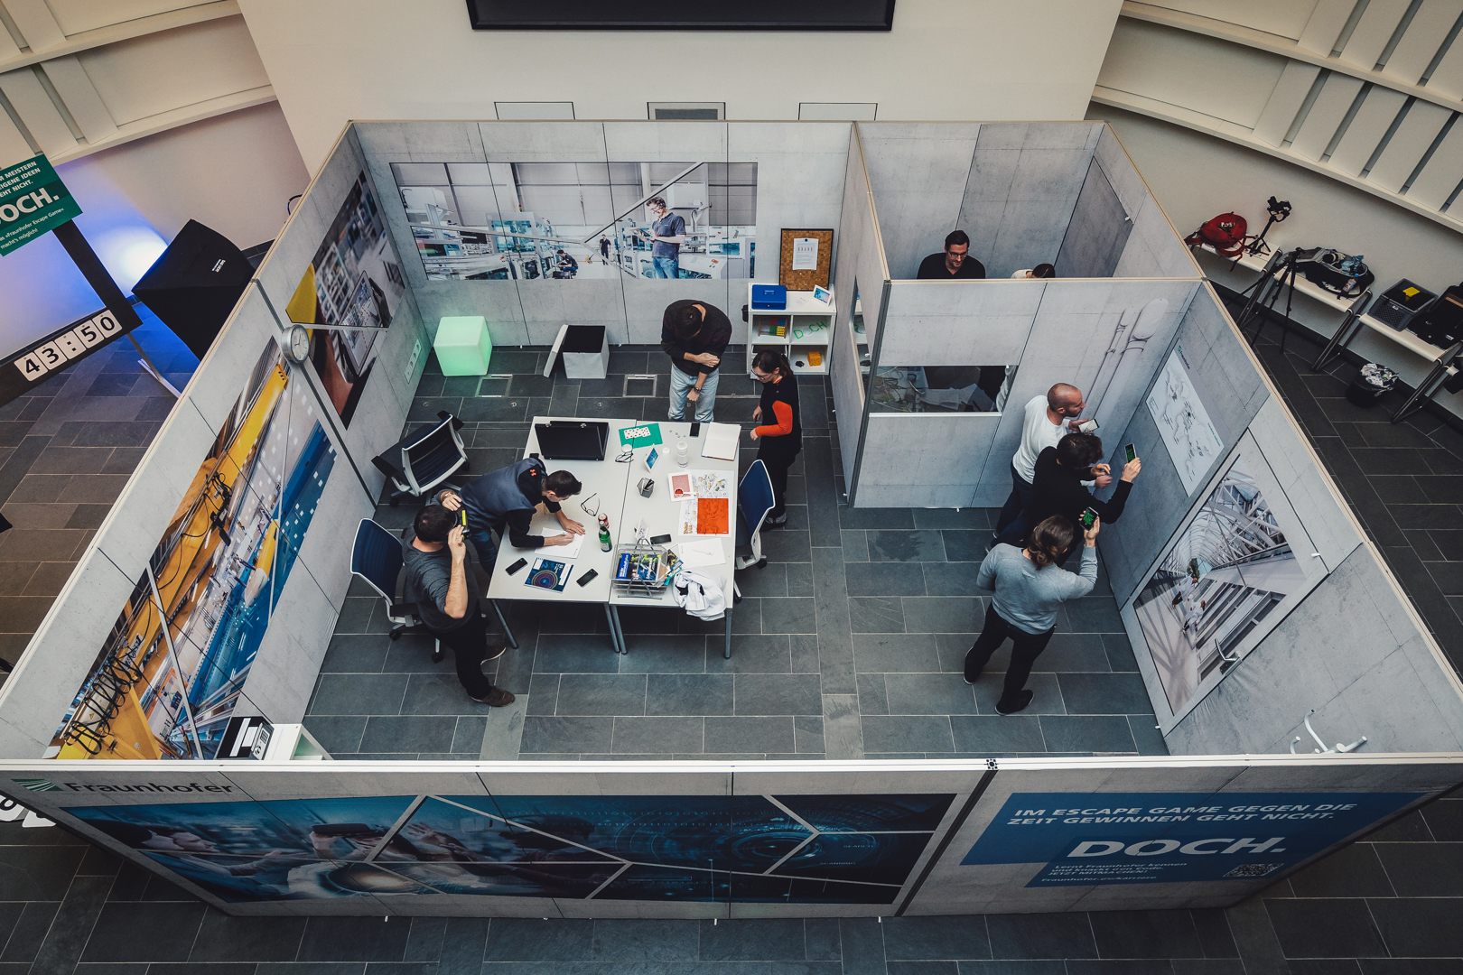
M 456 515 L 429 504 L 401 532 L 404 598 L 417 604 L 417 618 L 435 639 L 451 648 L 467 696 L 489 707 L 514 703 L 514 696 L 483 674 L 483 662 L 502 656 L 503 646 L 487 643 L 487 617 L 478 610 L 481 591 L 467 567 L 467 544 Z

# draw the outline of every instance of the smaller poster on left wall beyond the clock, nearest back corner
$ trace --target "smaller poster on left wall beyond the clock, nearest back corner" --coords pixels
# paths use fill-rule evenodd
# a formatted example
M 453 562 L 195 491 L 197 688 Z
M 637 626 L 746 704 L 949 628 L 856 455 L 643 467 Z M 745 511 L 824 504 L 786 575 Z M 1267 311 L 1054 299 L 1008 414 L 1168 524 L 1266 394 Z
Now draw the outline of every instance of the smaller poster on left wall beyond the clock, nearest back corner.
M 361 172 L 285 306 L 291 322 L 334 326 L 310 330 L 310 363 L 345 427 L 404 294 L 401 259 Z

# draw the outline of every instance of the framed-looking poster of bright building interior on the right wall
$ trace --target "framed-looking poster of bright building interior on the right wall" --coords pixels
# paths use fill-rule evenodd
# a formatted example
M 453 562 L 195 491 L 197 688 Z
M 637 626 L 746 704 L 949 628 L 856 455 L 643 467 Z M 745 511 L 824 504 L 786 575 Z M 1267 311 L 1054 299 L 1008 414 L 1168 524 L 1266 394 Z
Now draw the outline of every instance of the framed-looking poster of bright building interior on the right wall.
M 1236 453 L 1132 602 L 1169 709 L 1179 713 L 1242 642 L 1279 623 L 1306 589 L 1270 500 Z

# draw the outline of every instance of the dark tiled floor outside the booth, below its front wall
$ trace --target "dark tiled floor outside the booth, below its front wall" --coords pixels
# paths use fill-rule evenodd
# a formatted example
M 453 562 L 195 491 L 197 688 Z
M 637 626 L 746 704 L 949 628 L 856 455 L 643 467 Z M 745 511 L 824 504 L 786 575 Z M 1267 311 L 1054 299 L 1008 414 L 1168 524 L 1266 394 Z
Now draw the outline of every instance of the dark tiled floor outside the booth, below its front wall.
M 60 829 L 0 823 L 13 975 L 1460 975 L 1460 917 L 1463 798 L 1226 909 L 882 921 L 231 918 Z

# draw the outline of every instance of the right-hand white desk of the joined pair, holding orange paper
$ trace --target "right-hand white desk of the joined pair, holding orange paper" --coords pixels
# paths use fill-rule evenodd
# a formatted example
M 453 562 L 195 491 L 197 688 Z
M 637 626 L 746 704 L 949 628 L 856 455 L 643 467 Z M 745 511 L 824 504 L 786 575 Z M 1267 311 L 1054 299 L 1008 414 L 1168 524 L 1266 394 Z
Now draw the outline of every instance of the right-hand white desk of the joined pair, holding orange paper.
M 736 460 L 718 460 L 715 458 L 702 458 L 701 446 L 705 441 L 705 424 L 702 425 L 702 433 L 698 437 L 691 437 L 689 422 L 660 422 L 660 436 L 664 443 L 658 444 L 655 450 L 660 452 L 660 460 L 655 463 L 654 472 L 645 469 L 645 456 L 651 452 L 651 447 L 638 447 L 635 450 L 635 460 L 629 465 L 629 488 L 625 494 L 625 509 L 620 513 L 619 523 L 610 525 L 610 531 L 614 535 L 616 545 L 632 545 L 638 539 L 638 526 L 641 520 L 645 522 L 645 535 L 670 535 L 670 544 L 680 544 L 685 541 L 720 541 L 721 550 L 724 553 L 724 560 L 720 566 L 707 566 L 698 569 L 708 576 L 721 577 L 721 592 L 727 598 L 727 614 L 726 614 L 726 646 L 723 649 L 724 656 L 732 656 L 732 604 L 733 604 L 733 573 L 736 569 L 736 488 L 737 488 L 737 466 Z M 679 466 L 676 463 L 674 444 L 677 440 L 685 439 L 691 444 L 691 462 L 686 466 Z M 616 444 L 619 441 L 616 440 Z M 667 475 L 673 472 L 685 471 L 727 471 L 729 481 L 732 487 L 732 503 L 730 503 L 730 534 L 727 535 L 682 535 L 680 534 L 680 501 L 670 500 L 670 485 L 666 482 Z M 650 497 L 641 497 L 638 484 L 641 478 L 654 478 L 655 490 Z M 613 516 L 612 516 L 613 517 Z M 619 626 L 619 612 L 616 607 L 669 607 L 679 610 L 676 601 L 670 595 L 670 588 L 661 591 L 660 596 L 655 599 L 647 599 L 644 596 L 631 596 L 623 592 L 610 591 L 610 612 L 614 617 L 614 627 L 619 631 L 620 653 L 626 653 L 625 646 L 625 630 Z

